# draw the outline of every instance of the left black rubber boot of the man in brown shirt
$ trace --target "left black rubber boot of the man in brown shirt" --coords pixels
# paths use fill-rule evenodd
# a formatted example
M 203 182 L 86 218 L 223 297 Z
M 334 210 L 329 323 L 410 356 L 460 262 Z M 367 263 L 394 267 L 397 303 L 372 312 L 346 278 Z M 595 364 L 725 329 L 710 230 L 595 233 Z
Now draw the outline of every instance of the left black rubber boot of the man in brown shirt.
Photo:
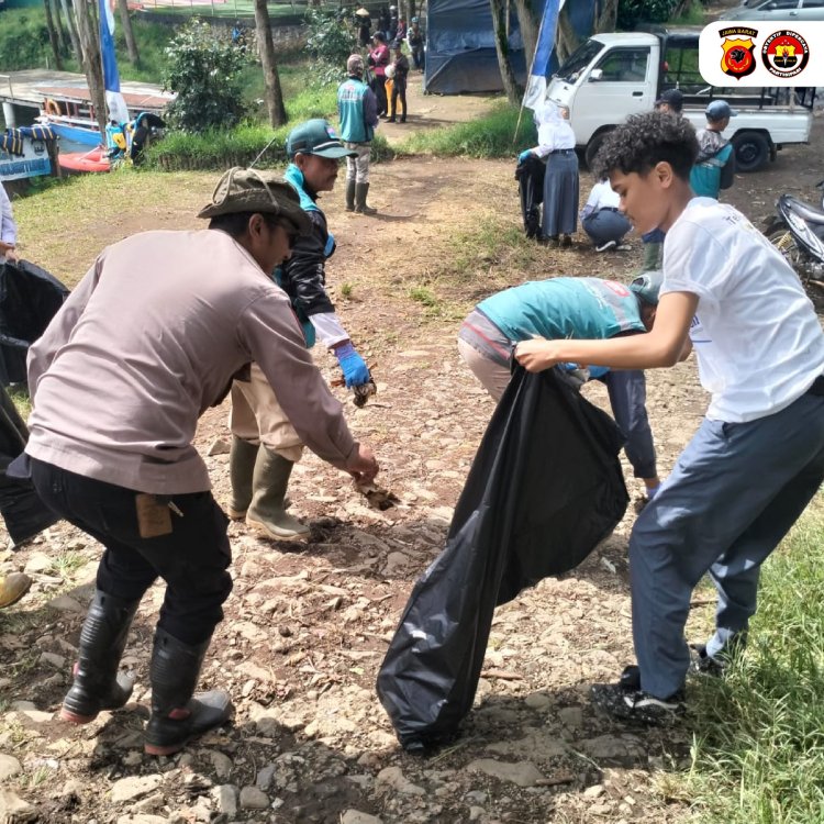
M 129 701 L 133 681 L 118 667 L 140 602 L 94 592 L 80 631 L 75 682 L 63 700 L 64 721 L 88 724 L 101 710 L 119 710 Z

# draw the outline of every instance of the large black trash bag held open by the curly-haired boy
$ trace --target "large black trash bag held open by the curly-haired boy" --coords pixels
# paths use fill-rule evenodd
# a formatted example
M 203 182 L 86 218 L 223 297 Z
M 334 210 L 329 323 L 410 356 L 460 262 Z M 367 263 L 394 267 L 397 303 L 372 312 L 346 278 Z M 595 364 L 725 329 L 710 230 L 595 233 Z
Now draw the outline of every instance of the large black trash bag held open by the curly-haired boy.
M 480 677 L 492 614 L 572 569 L 628 503 L 612 419 L 556 369 L 519 368 L 498 404 L 449 526 L 412 590 L 377 690 L 404 749 L 455 736 Z

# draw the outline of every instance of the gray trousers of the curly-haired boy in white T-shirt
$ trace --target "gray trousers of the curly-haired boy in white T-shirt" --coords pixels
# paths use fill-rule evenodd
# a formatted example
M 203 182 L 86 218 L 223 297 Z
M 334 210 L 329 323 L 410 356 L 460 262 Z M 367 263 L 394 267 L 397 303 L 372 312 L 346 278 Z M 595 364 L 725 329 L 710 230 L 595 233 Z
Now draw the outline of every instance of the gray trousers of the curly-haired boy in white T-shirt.
M 638 516 L 630 539 L 633 639 L 642 689 L 683 684 L 690 598 L 709 572 L 719 593 L 716 655 L 744 637 L 761 564 L 824 480 L 824 397 L 748 423 L 704 422 Z

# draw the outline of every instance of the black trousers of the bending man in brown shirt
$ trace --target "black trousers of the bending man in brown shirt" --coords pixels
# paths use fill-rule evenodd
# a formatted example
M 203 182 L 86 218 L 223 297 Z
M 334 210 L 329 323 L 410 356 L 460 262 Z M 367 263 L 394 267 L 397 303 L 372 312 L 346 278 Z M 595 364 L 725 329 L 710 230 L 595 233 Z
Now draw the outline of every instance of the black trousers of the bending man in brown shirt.
M 43 502 L 104 547 L 101 592 L 137 600 L 156 578 L 166 581 L 158 627 L 185 644 L 200 644 L 223 620 L 232 591 L 229 520 L 211 492 L 172 497 L 171 532 L 141 537 L 134 490 L 86 478 L 32 459 L 32 481 Z

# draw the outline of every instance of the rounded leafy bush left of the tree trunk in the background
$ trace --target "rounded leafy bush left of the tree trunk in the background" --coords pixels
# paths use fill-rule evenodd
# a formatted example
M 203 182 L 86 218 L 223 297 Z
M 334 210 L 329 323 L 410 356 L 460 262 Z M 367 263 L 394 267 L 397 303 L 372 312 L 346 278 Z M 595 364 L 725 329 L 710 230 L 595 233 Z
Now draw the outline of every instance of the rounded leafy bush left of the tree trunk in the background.
M 214 36 L 211 26 L 193 20 L 166 49 L 164 86 L 177 92 L 167 109 L 170 125 L 186 132 L 232 129 L 244 114 L 241 73 L 243 49 Z

